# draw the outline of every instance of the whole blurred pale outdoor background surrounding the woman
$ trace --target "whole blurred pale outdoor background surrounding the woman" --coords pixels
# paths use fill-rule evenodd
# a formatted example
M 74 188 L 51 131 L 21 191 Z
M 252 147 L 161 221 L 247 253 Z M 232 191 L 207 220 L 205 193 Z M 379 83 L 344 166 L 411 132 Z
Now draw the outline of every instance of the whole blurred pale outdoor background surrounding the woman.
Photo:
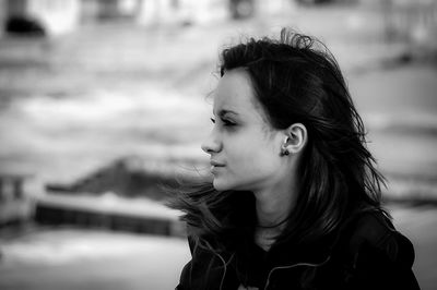
M 173 289 L 160 184 L 208 169 L 217 57 L 290 26 L 338 58 L 437 285 L 436 0 L 0 0 L 0 289 Z

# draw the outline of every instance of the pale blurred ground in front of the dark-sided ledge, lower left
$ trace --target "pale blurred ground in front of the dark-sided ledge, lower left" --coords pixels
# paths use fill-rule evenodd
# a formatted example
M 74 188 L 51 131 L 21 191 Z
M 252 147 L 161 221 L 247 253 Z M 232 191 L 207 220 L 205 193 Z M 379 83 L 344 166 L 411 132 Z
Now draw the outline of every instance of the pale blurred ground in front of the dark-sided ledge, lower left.
M 0 242 L 4 290 L 174 289 L 190 257 L 182 239 L 68 228 Z

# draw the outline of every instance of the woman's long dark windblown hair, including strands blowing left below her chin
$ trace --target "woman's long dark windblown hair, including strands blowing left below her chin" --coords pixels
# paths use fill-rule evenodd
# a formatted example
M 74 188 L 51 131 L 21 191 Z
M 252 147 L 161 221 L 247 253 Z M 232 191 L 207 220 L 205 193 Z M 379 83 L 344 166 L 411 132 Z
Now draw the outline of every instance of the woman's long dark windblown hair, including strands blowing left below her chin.
M 243 69 L 274 129 L 302 123 L 308 132 L 299 167 L 300 192 L 277 242 L 296 245 L 334 234 L 346 218 L 380 205 L 383 177 L 366 147 L 366 132 L 339 64 L 323 44 L 286 28 L 280 39 L 250 38 L 222 51 L 221 76 Z M 215 250 L 238 251 L 255 229 L 250 193 L 217 192 L 211 182 L 179 189 L 192 237 Z

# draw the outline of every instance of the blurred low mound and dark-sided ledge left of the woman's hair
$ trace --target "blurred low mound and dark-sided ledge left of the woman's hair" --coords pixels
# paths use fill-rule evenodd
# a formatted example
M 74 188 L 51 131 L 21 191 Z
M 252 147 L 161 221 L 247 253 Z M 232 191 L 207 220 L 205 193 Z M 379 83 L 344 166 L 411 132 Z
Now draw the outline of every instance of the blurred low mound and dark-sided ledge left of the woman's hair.
M 42 225 L 181 237 L 181 213 L 164 205 L 169 195 L 162 186 L 174 188 L 194 176 L 179 174 L 175 167 L 172 160 L 121 158 L 71 184 L 47 184 L 36 197 L 34 219 Z

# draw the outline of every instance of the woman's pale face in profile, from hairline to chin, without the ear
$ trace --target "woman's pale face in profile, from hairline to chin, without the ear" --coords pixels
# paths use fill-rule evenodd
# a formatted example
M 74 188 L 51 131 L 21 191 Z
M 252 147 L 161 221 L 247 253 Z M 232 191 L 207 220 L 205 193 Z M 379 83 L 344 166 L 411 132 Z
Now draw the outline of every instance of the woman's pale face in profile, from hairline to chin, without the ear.
M 284 133 L 268 122 L 245 71 L 228 71 L 218 81 L 213 114 L 202 149 L 211 155 L 214 188 L 257 191 L 277 182 Z

